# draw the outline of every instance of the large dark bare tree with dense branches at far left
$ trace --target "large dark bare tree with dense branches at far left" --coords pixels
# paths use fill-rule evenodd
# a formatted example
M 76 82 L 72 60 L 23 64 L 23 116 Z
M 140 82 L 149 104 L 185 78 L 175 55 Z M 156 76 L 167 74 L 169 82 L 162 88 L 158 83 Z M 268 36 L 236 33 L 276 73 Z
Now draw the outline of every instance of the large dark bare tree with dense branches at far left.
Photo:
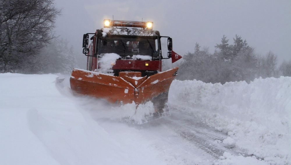
M 61 10 L 53 0 L 0 0 L 0 72 L 15 72 L 49 40 Z M 28 62 L 29 63 L 29 62 Z

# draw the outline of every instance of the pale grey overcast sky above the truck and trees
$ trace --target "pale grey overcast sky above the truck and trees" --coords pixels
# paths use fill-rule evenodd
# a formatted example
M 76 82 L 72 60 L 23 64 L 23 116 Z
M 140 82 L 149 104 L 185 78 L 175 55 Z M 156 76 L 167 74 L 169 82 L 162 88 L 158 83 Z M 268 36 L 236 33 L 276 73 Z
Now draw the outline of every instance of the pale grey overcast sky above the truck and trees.
M 233 44 L 237 34 L 246 39 L 257 54 L 272 51 L 278 63 L 291 60 L 290 0 L 55 0 L 63 8 L 56 21 L 56 33 L 69 40 L 82 55 L 84 33 L 103 27 L 104 19 L 152 21 L 154 30 L 173 38 L 173 50 L 184 55 L 194 52 L 195 43 L 209 47 L 223 35 Z

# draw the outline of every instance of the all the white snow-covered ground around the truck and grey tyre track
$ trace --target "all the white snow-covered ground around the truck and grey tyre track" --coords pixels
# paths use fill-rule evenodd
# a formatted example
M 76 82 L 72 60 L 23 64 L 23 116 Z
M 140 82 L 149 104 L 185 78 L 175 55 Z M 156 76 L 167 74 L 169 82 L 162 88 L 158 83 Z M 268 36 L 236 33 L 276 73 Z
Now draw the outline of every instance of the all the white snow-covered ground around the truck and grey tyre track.
M 168 117 L 127 123 L 134 104 L 74 97 L 68 77 L 58 83 L 59 76 L 0 74 L 1 165 L 291 164 L 291 77 L 224 85 L 173 81 L 171 121 L 187 116 L 225 136 L 213 143 L 242 151 L 216 158 L 175 134 Z

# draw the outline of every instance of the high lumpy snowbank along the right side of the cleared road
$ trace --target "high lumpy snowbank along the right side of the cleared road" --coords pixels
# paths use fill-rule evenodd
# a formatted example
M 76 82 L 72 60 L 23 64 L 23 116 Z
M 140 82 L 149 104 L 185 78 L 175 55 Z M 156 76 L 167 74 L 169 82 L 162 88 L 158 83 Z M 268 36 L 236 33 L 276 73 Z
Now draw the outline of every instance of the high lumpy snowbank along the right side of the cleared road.
M 247 148 L 271 164 L 291 164 L 291 77 L 224 85 L 174 80 L 169 102 L 226 132 L 234 140 L 226 146 Z

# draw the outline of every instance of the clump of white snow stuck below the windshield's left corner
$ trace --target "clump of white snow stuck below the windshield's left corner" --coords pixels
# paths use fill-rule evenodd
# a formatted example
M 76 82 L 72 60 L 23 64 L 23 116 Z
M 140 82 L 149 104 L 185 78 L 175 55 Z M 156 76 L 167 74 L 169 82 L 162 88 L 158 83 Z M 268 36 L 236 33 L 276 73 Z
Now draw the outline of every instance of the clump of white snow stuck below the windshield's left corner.
M 98 73 L 108 74 L 113 72 L 112 67 L 116 64 L 116 60 L 120 56 L 116 53 L 105 53 L 101 58 L 98 58 Z

